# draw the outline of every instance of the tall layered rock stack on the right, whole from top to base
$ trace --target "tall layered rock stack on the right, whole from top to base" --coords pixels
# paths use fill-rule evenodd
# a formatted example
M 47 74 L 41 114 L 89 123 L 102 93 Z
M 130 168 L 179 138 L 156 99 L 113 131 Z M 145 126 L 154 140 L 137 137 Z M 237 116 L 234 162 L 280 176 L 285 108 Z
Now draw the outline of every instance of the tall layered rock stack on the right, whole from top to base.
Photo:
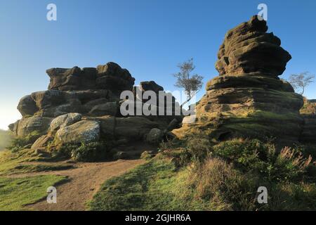
M 279 75 L 290 54 L 267 33 L 265 20 L 254 16 L 225 35 L 218 51 L 219 76 L 206 84 L 196 107 L 195 122 L 173 131 L 180 139 L 203 133 L 214 141 L 234 137 L 298 141 L 303 98 Z

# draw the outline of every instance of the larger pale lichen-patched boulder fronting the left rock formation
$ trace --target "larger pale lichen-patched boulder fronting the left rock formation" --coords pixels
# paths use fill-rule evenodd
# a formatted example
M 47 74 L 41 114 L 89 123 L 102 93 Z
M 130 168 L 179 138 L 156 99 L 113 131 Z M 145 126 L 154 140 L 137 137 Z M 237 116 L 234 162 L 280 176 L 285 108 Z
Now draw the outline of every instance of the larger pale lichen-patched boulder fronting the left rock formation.
M 81 120 L 68 127 L 59 129 L 56 137 L 62 143 L 88 143 L 99 141 L 100 125 L 96 121 Z

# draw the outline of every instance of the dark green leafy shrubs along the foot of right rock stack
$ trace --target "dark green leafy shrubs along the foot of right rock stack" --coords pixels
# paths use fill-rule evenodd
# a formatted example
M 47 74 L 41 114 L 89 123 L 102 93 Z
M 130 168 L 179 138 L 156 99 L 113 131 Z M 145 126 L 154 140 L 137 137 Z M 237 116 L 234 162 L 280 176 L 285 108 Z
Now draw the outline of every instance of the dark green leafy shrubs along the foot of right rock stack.
M 269 181 L 293 181 L 307 174 L 311 160 L 299 149 L 285 147 L 277 153 L 271 143 L 254 140 L 225 141 L 213 147 L 213 154 L 234 162 L 244 172 L 257 172 Z

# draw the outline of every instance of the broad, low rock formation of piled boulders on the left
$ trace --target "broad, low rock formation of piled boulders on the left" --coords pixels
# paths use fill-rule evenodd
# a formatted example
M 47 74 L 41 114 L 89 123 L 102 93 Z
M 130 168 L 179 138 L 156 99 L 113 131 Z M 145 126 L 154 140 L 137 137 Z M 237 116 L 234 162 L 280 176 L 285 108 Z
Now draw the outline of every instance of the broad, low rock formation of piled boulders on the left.
M 129 71 L 116 63 L 97 68 L 52 68 L 46 72 L 51 78 L 48 90 L 21 98 L 18 110 L 22 119 L 9 126 L 20 137 L 40 134 L 34 149 L 46 150 L 52 141 L 80 144 L 106 140 L 117 146 L 133 141 L 157 144 L 180 121 L 174 115 L 121 115 L 119 107 L 125 101 L 120 99 L 121 92 L 136 88 Z M 164 90 L 155 82 L 141 82 L 139 88 L 156 94 Z M 138 101 L 134 95 L 134 101 Z

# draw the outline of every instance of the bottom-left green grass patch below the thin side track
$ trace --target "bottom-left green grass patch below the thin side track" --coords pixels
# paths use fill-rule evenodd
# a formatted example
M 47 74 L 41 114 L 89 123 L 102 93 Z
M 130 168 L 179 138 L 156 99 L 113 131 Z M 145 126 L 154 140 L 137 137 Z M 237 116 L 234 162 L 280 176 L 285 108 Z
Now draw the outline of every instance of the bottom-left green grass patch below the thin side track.
M 0 210 L 27 210 L 25 205 L 45 198 L 49 186 L 65 181 L 65 176 L 0 177 Z

